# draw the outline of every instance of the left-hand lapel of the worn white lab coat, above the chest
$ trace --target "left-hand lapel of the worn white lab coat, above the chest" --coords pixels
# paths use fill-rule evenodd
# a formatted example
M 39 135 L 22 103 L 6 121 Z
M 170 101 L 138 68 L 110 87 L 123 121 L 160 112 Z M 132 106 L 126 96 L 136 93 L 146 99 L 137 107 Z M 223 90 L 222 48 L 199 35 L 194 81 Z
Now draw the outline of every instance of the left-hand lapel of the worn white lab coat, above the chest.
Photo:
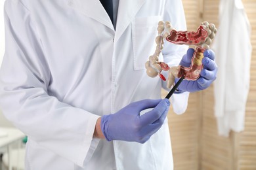
M 106 25 L 114 31 L 114 26 L 108 13 L 99 0 L 69 0 L 68 5 L 82 14 Z

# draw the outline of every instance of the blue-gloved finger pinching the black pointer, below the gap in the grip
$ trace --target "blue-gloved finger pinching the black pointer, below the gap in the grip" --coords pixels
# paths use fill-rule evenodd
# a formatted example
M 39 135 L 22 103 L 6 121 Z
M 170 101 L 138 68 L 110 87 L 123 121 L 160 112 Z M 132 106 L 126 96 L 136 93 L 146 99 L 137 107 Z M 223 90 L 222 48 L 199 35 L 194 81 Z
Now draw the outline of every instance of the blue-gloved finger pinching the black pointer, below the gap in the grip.
M 169 110 L 170 101 L 168 99 L 162 99 L 160 103 L 151 111 L 146 112 L 142 116 L 140 116 L 142 126 L 146 126 L 148 124 L 152 124 L 159 119 L 163 119 L 165 117 L 166 112 Z

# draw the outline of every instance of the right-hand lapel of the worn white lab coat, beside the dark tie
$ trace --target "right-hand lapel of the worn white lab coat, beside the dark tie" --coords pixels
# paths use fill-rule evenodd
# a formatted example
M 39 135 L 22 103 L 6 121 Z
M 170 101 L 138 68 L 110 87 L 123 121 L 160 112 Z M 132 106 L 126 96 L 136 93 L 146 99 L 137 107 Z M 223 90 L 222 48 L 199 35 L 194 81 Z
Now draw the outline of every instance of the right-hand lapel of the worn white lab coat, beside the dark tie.
M 121 37 L 146 0 L 119 0 L 115 41 Z

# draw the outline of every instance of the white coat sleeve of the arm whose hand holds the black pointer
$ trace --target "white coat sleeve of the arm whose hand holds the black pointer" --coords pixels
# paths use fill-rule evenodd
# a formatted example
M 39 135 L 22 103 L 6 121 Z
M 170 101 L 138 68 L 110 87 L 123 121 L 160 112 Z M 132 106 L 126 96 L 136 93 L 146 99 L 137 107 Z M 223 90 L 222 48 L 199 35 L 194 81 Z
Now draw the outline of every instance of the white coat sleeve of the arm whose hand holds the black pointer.
M 30 11 L 20 1 L 5 3 L 5 36 L 0 71 L 3 113 L 29 139 L 83 166 L 99 141 L 93 139 L 99 116 L 47 94 L 51 71 Z

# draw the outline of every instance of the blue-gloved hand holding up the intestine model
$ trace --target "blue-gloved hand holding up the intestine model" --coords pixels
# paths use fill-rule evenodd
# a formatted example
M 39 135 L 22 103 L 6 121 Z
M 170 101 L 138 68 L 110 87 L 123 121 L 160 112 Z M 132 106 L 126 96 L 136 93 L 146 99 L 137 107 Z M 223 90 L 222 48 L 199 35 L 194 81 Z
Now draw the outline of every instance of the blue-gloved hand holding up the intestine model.
M 190 67 L 191 58 L 193 56 L 194 49 L 189 48 L 186 54 L 181 59 L 180 65 L 184 67 Z M 208 88 L 211 83 L 216 79 L 217 64 L 215 63 L 215 54 L 213 50 L 205 50 L 203 52 L 204 58 L 202 59 L 203 69 L 200 73 L 198 80 L 182 80 L 178 87 L 179 92 L 196 92 Z M 179 78 L 175 78 L 175 83 Z

